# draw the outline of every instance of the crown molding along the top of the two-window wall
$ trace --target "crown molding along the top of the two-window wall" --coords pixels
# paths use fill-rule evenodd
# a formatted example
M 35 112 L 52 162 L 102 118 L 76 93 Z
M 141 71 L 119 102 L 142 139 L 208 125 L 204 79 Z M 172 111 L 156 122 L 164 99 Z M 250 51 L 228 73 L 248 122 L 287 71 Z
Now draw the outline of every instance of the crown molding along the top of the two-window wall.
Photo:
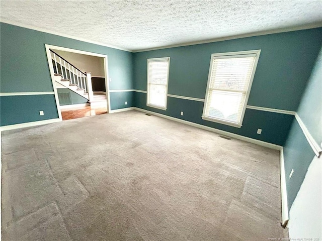
M 305 29 L 314 29 L 314 28 L 320 28 L 320 27 L 322 27 L 321 23 L 312 23 L 312 24 L 306 24 L 306 25 L 296 26 L 296 27 L 266 30 L 266 31 L 260 31 L 255 33 L 239 34 L 239 35 L 233 35 L 233 36 L 227 36 L 227 37 L 215 38 L 215 39 L 209 39 L 209 40 L 201 40 L 201 41 L 187 42 L 182 44 L 167 45 L 162 47 L 133 50 L 132 52 L 139 53 L 139 52 L 152 51 L 152 50 L 158 50 L 158 49 L 169 49 L 169 48 L 176 48 L 176 47 L 183 47 L 183 46 L 190 46 L 190 45 L 197 45 L 197 44 L 207 44 L 207 43 L 214 43 L 214 42 L 220 42 L 225 40 L 241 39 L 241 38 L 248 38 L 248 37 L 268 35 L 268 34 L 278 34 L 278 33 L 292 32 L 292 31 L 305 30 Z

